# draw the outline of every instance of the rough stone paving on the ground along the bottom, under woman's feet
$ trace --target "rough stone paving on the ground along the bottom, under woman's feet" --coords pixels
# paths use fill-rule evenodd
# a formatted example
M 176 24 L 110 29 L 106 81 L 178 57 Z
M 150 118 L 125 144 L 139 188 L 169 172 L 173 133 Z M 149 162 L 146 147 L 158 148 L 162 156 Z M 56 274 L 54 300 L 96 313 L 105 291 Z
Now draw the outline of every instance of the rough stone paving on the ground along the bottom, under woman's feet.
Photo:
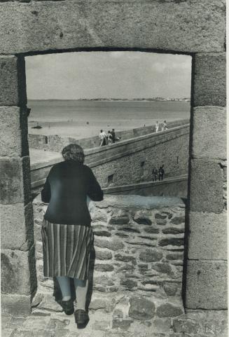
M 195 319 L 194 319 L 195 316 Z M 192 318 L 191 318 L 192 317 Z M 157 328 L 144 331 L 147 322 L 137 322 L 131 331 L 127 325 L 112 326 L 109 314 L 90 311 L 90 322 L 85 329 L 77 329 L 74 315 L 63 312 L 44 312 L 34 309 L 27 317 L 2 315 L 2 337 L 227 337 L 227 313 L 190 312 L 178 319 L 160 322 Z

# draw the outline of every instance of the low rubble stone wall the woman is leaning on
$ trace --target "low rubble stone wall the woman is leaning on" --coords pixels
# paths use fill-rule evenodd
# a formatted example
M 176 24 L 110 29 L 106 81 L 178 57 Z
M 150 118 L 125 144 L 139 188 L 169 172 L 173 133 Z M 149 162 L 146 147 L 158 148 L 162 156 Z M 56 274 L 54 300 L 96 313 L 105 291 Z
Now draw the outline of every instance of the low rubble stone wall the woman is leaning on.
M 97 324 L 137 332 L 167 329 L 183 314 L 181 284 L 185 205 L 179 198 L 107 196 L 90 202 L 95 254 L 90 261 L 90 312 Z M 41 223 L 46 205 L 34 200 L 39 288 L 34 310 L 53 310 L 52 282 L 43 277 Z M 38 303 L 39 302 L 39 303 Z M 60 310 L 61 308 L 59 308 Z M 163 327 L 163 325 L 165 326 Z

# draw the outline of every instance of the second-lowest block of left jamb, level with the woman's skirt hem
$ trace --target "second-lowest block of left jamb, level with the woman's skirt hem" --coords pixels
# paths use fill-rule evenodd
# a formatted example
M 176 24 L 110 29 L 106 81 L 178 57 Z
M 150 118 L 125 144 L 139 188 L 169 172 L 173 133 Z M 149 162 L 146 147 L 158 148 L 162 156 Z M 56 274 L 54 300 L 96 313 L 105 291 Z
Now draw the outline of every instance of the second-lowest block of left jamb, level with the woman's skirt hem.
M 1 292 L 29 295 L 36 289 L 34 247 L 29 252 L 1 250 Z

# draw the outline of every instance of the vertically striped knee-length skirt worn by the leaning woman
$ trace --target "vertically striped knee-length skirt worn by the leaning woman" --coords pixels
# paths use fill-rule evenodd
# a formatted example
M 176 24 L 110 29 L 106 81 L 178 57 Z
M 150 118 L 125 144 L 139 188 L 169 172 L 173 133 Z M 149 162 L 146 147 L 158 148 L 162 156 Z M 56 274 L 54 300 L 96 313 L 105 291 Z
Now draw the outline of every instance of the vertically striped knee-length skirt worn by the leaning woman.
M 94 235 L 92 227 L 62 225 L 43 219 L 43 275 L 88 279 L 90 249 Z

